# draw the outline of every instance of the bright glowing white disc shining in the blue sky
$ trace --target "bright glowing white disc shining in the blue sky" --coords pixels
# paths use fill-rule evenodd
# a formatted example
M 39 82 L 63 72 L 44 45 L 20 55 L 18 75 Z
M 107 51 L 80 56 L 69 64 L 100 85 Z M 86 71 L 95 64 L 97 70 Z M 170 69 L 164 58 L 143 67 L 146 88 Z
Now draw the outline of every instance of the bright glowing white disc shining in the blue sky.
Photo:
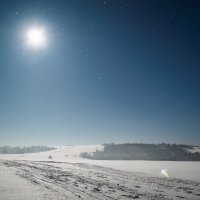
M 27 31 L 27 44 L 32 48 L 45 48 L 46 40 L 43 28 L 34 27 Z

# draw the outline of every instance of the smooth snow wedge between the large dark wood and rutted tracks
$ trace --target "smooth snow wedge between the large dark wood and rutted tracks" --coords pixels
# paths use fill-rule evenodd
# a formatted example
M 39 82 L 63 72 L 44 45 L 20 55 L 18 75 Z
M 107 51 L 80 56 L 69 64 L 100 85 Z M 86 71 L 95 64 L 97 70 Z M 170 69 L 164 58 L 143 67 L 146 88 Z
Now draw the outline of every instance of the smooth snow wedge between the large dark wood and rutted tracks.
M 200 162 L 88 160 L 87 163 L 156 177 L 163 177 L 161 172 L 166 170 L 171 178 L 200 181 Z

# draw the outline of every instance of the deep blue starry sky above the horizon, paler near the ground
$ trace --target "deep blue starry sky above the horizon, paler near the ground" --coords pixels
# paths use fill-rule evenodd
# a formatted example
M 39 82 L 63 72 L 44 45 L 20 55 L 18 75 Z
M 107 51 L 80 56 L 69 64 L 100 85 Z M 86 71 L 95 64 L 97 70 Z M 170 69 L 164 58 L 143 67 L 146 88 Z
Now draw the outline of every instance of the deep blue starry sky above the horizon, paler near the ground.
M 0 0 L 0 145 L 200 145 L 198 0 Z M 46 44 L 27 45 L 42 27 Z

